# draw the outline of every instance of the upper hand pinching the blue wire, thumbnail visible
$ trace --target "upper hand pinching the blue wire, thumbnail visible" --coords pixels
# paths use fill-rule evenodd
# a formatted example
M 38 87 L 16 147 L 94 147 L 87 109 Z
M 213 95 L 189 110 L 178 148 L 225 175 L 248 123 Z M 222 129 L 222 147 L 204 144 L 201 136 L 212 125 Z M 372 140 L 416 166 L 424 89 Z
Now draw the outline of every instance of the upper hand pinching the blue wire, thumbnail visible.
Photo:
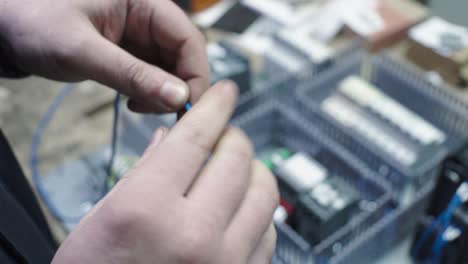
M 137 112 L 179 110 L 209 87 L 203 36 L 170 0 L 0 0 L 0 35 L 22 70 L 101 82 Z

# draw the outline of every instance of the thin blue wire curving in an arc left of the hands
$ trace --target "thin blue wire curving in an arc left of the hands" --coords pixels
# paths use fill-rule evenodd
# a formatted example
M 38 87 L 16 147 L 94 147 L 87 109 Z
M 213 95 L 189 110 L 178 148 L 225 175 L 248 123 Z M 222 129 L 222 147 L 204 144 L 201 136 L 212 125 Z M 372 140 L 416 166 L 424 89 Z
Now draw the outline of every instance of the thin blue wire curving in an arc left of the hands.
M 58 221 L 77 221 L 80 217 L 68 217 L 64 216 L 60 213 L 60 211 L 55 207 L 53 202 L 51 201 L 47 191 L 44 188 L 42 178 L 39 175 L 39 158 L 38 158 L 38 149 L 41 144 L 42 134 L 46 130 L 47 126 L 50 123 L 50 120 L 53 118 L 55 112 L 65 99 L 65 97 L 72 91 L 73 84 L 65 84 L 60 92 L 54 98 L 52 104 L 49 106 L 45 114 L 39 120 L 39 123 L 34 131 L 32 144 L 29 152 L 29 165 L 31 167 L 31 174 L 32 174 L 32 181 L 34 187 L 36 188 L 40 198 L 44 202 L 44 204 L 49 209 L 50 213 L 53 217 L 55 217 Z

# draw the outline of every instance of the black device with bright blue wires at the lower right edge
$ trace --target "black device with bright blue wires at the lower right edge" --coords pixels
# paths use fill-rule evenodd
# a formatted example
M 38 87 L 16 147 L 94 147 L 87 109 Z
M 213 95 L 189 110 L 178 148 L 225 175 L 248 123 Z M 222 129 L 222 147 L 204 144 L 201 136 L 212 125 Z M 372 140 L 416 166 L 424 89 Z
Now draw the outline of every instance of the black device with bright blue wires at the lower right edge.
M 468 207 L 455 208 L 447 216 L 455 194 L 468 182 L 468 148 L 442 164 L 437 186 L 426 214 L 419 221 L 411 255 L 418 263 L 466 264 L 468 256 Z M 445 227 L 441 219 L 449 219 Z M 439 221 L 438 221 L 439 220 Z

